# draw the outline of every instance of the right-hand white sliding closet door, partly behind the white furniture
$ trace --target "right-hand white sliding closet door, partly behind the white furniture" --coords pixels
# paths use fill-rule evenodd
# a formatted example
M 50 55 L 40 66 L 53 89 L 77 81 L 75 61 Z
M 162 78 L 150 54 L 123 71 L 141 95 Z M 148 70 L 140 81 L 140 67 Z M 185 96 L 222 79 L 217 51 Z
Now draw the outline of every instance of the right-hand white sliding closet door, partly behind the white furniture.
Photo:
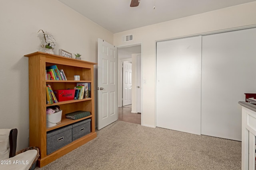
M 241 141 L 244 93 L 256 93 L 256 29 L 202 37 L 202 135 Z

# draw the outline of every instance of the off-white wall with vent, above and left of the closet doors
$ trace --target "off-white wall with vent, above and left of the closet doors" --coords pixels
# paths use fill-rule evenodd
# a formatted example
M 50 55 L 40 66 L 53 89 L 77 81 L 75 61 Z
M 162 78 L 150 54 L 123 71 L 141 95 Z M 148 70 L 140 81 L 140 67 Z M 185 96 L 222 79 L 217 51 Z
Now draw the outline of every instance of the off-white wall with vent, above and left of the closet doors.
M 122 43 L 123 35 L 133 34 L 132 43 L 142 43 L 143 84 L 142 125 L 155 127 L 155 80 L 156 57 L 155 43 L 158 40 L 171 39 L 210 31 L 231 29 L 256 24 L 256 2 L 224 8 L 212 12 L 162 22 L 138 29 L 114 34 L 114 45 Z

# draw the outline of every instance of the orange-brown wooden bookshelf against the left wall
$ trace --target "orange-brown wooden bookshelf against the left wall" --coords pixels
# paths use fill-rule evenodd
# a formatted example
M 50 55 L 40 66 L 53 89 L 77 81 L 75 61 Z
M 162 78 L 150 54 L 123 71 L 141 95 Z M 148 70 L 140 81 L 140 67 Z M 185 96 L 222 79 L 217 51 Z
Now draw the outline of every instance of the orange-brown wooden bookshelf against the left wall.
M 96 63 L 43 52 L 35 52 L 24 56 L 28 57 L 29 63 L 29 145 L 39 148 L 38 166 L 42 167 L 97 136 L 94 115 L 94 64 Z M 46 80 L 46 66 L 50 65 L 57 65 L 58 69 L 63 69 L 67 80 Z M 74 81 L 74 75 L 80 75 L 80 81 Z M 63 90 L 74 89 L 78 82 L 91 83 L 91 98 L 46 104 L 46 84 L 50 84 L 53 90 Z M 56 105 L 60 106 L 62 110 L 61 123 L 53 127 L 46 127 L 46 107 Z M 78 120 L 66 119 L 66 113 L 78 110 L 90 111 L 91 115 Z M 46 133 L 48 131 L 87 118 L 91 119 L 91 133 L 49 155 L 46 154 Z

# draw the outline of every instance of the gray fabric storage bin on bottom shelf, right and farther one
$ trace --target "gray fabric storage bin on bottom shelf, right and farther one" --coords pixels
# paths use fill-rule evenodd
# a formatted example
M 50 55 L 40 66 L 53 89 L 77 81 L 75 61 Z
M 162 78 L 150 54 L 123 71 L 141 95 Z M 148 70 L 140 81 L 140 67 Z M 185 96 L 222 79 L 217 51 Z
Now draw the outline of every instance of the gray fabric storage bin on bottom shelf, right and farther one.
M 85 119 L 72 124 L 72 141 L 91 132 L 91 119 Z

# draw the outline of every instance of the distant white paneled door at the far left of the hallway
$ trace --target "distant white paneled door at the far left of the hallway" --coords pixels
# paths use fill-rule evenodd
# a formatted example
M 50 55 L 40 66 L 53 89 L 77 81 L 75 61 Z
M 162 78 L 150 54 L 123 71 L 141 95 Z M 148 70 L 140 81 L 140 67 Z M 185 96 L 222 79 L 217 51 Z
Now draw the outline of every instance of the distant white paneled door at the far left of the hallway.
M 123 96 L 122 106 L 132 104 L 132 63 L 123 62 Z

